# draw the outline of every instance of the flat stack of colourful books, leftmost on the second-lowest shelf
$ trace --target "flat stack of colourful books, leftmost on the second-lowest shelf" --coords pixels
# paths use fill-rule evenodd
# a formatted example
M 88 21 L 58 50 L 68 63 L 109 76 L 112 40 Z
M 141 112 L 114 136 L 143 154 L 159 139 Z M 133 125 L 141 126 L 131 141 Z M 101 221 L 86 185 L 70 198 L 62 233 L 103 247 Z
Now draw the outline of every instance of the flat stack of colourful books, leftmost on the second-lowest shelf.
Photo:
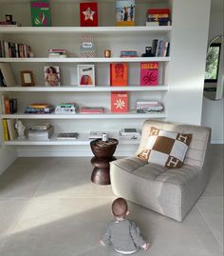
M 25 109 L 26 114 L 49 114 L 54 111 L 54 107 L 47 103 L 33 103 Z

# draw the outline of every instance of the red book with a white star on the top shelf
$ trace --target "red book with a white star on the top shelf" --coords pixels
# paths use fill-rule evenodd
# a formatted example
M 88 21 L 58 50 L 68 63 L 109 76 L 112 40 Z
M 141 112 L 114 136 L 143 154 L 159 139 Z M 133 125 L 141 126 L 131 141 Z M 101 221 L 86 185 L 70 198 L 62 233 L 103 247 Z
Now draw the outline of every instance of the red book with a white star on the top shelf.
M 98 27 L 97 2 L 80 3 L 80 26 L 81 27 Z

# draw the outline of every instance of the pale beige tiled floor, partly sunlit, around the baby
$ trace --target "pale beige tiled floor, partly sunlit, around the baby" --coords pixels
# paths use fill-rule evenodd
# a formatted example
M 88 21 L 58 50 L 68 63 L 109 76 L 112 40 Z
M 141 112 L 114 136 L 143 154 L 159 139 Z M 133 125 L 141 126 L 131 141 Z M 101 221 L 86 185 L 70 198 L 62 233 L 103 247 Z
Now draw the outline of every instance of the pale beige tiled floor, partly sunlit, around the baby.
M 129 203 L 150 256 L 223 255 L 223 146 L 208 187 L 182 223 Z M 1 256 L 116 256 L 98 241 L 112 219 L 110 186 L 90 182 L 89 158 L 19 158 L 0 176 Z

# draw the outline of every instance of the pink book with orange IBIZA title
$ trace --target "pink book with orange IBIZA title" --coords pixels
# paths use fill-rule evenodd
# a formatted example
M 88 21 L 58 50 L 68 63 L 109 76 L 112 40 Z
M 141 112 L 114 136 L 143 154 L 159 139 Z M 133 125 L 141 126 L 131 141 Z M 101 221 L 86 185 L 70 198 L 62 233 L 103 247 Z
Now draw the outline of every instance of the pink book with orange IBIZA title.
M 140 63 L 140 86 L 158 86 L 159 83 L 159 63 Z

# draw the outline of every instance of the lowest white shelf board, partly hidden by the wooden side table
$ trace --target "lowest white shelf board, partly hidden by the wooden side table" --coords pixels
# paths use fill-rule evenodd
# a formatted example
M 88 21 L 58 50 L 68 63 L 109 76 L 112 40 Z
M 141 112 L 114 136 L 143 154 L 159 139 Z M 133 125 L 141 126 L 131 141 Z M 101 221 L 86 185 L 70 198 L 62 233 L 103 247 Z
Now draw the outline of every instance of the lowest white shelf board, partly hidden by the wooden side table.
M 109 133 L 108 133 L 109 134 Z M 119 140 L 119 144 L 121 145 L 139 145 L 140 139 L 119 139 L 118 134 L 109 135 L 109 137 L 113 137 Z M 6 141 L 5 145 L 17 145 L 17 146 L 36 146 L 36 145 L 61 145 L 61 146 L 67 146 L 67 145 L 89 145 L 90 142 L 94 139 L 88 139 L 87 133 L 80 133 L 79 137 L 76 140 L 59 140 L 55 136 L 52 136 L 48 141 L 31 141 L 28 139 L 24 140 L 14 140 L 14 141 Z

